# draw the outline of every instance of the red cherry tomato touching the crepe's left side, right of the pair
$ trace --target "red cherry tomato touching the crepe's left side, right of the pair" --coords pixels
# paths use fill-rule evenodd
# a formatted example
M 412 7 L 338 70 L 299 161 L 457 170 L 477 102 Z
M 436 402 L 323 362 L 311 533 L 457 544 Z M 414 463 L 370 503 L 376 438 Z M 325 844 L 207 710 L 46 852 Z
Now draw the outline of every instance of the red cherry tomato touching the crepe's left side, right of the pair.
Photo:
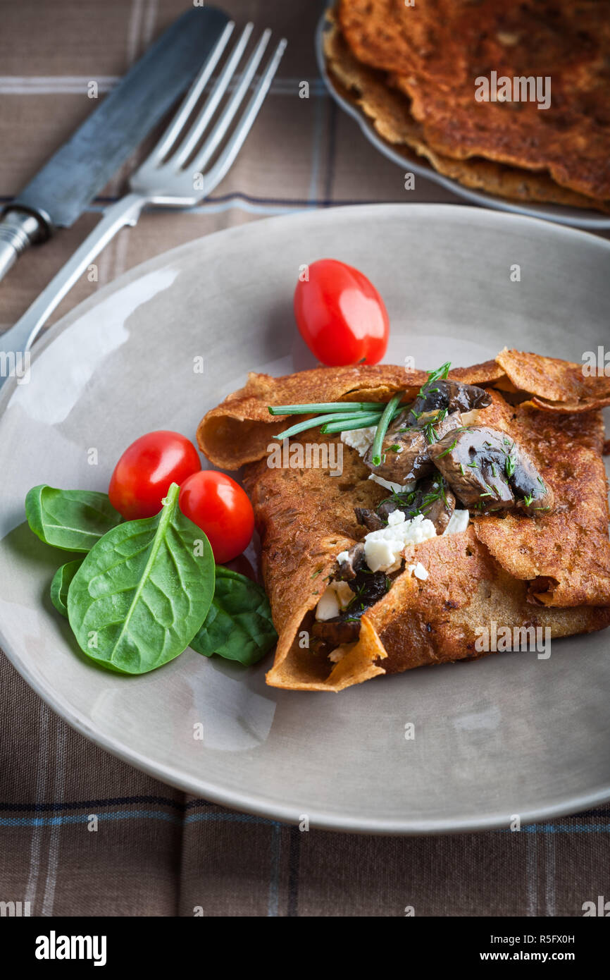
M 208 535 L 217 564 L 230 562 L 252 540 L 255 514 L 246 492 L 224 473 L 202 469 L 184 481 L 178 504 Z

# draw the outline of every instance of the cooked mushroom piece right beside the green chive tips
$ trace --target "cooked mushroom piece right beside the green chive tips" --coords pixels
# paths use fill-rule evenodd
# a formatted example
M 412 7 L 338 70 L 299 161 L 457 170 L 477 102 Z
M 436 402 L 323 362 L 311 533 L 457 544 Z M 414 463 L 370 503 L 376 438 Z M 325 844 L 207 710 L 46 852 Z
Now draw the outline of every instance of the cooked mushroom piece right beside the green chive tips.
M 372 447 L 364 457 L 364 464 L 378 476 L 402 486 L 434 472 L 428 456 L 428 447 L 435 439 L 442 439 L 446 432 L 462 423 L 459 412 L 444 416 L 443 412 L 424 413 L 415 424 L 393 425 L 383 442 L 381 465 L 373 466 Z

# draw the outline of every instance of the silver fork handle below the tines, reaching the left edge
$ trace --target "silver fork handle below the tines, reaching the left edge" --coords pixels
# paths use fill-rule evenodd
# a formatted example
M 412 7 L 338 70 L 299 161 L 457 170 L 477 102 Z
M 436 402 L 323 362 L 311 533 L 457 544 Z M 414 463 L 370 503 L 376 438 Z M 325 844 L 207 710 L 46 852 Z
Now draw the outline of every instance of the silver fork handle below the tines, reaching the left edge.
M 143 195 L 129 193 L 105 210 L 101 221 L 78 246 L 66 265 L 53 276 L 23 317 L 0 336 L 3 352 L 24 353 L 29 350 L 41 326 L 46 323 L 91 260 L 99 255 L 120 228 L 138 221 L 146 203 L 147 199 Z M 3 380 L 4 378 L 0 378 L 0 384 Z

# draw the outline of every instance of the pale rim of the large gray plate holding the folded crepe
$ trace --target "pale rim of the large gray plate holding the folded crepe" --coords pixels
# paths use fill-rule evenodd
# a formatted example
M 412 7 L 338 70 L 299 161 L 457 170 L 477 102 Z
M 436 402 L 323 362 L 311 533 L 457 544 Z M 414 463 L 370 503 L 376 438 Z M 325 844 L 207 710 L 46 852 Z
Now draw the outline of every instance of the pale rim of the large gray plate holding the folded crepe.
M 332 214 L 336 210 L 340 210 L 342 214 L 346 214 L 347 217 L 350 217 L 351 215 L 355 216 L 357 213 L 366 218 L 367 214 L 370 214 L 371 212 L 373 212 L 375 216 L 379 216 L 382 212 L 393 214 L 399 210 L 405 213 L 405 217 L 407 219 L 409 213 L 413 214 L 415 212 L 421 214 L 425 211 L 428 214 L 434 212 L 437 215 L 440 215 L 441 218 L 444 217 L 443 213 L 446 213 L 445 217 L 452 221 L 466 221 L 467 223 L 471 223 L 472 221 L 491 221 L 492 223 L 495 221 L 500 223 L 508 221 L 510 223 L 517 224 L 521 222 L 526 222 L 527 224 L 535 222 L 540 226 L 540 230 L 544 228 L 545 231 L 552 236 L 567 236 L 568 238 L 577 236 L 578 238 L 582 238 L 582 240 L 587 241 L 590 245 L 593 245 L 594 243 L 593 247 L 599 247 L 603 251 L 610 253 L 610 241 L 605 238 L 592 235 L 586 230 L 576 228 L 571 225 L 543 221 L 540 218 L 534 218 L 529 215 L 505 212 L 500 209 L 482 209 L 468 207 L 465 205 L 456 206 L 454 204 L 436 203 L 356 204 L 342 206 L 340 209 L 300 209 L 299 211 L 293 212 L 289 215 L 272 216 L 269 218 L 260 219 L 258 221 L 250 221 L 243 225 L 235 225 L 233 227 L 223 228 L 218 231 L 211 232 L 211 234 L 191 239 L 188 242 L 183 242 L 182 244 L 174 246 L 173 248 L 168 249 L 157 256 L 153 256 L 144 262 L 139 263 L 131 269 L 123 272 L 112 282 L 106 283 L 104 286 L 92 293 L 91 296 L 88 296 L 81 303 L 70 310 L 64 317 L 53 323 L 52 326 L 50 326 L 44 332 L 40 341 L 35 344 L 33 348 L 34 354 L 45 350 L 50 343 L 53 343 L 57 336 L 63 333 L 64 330 L 68 329 L 72 322 L 79 319 L 82 313 L 97 306 L 100 302 L 103 302 L 107 296 L 112 295 L 132 279 L 137 279 L 160 265 L 170 263 L 182 252 L 186 253 L 196 251 L 203 241 L 207 241 L 211 237 L 214 239 L 216 239 L 218 236 L 226 236 L 227 238 L 236 237 L 244 233 L 251 233 L 249 229 L 257 229 L 258 226 L 266 225 L 270 221 L 274 223 L 289 223 L 290 221 L 294 221 L 294 219 L 297 217 L 301 221 L 331 221 L 333 220 Z M 10 402 L 16 387 L 17 380 L 15 378 L 9 378 L 3 385 L 2 390 L 0 390 L 0 419 L 3 417 L 7 404 Z M 74 711 L 70 707 L 70 704 L 63 703 L 61 694 L 58 693 L 55 688 L 47 684 L 45 679 L 38 674 L 36 669 L 32 669 L 28 662 L 23 661 L 21 656 L 11 649 L 10 644 L 6 640 L 1 621 L 0 647 L 4 651 L 8 660 L 23 677 L 25 682 L 32 688 L 38 697 L 45 702 L 45 704 L 47 704 L 53 711 L 56 711 L 56 713 L 59 714 L 60 717 L 62 717 L 68 724 L 70 724 L 70 727 L 79 732 L 79 734 L 83 735 L 94 744 L 100 746 L 117 759 L 134 766 L 140 771 L 146 772 L 148 775 L 159 779 L 166 785 L 173 786 L 176 789 L 196 797 L 203 797 L 204 799 L 209 800 L 211 803 L 219 806 L 235 809 L 241 812 L 252 813 L 272 822 L 279 821 L 288 824 L 299 823 L 298 816 L 295 816 L 295 810 L 286 805 L 266 801 L 260 795 L 243 795 L 237 791 L 224 790 L 208 783 L 205 779 L 196 780 L 186 775 L 180 775 L 172 770 L 172 768 L 167 764 L 151 760 L 149 757 L 142 755 L 135 749 L 126 748 L 118 739 L 100 731 L 85 714 L 83 714 L 81 711 Z M 523 811 L 520 813 L 521 823 L 522 826 L 540 823 L 541 821 L 555 817 L 603 806 L 609 802 L 610 785 L 607 787 L 598 788 L 587 794 L 580 794 L 578 796 L 571 797 L 550 806 L 540 806 L 539 808 Z M 316 811 L 315 809 L 310 808 L 308 809 L 308 817 L 310 826 L 318 829 L 380 836 L 429 836 L 466 832 L 480 833 L 488 830 L 507 828 L 506 813 L 492 813 L 486 817 L 465 817 L 458 820 L 452 817 L 447 819 L 421 821 L 411 820 L 408 818 L 362 818 L 357 816 L 342 816 L 338 813 L 324 811 L 323 809 Z

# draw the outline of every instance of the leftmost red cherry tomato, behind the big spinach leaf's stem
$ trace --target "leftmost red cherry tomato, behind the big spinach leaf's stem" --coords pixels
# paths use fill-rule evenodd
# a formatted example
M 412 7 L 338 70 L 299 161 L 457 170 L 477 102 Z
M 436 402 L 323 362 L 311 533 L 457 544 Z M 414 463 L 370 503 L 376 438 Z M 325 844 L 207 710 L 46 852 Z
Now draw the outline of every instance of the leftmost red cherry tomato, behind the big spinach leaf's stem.
M 201 471 L 199 453 L 179 432 L 161 429 L 140 436 L 124 451 L 108 488 L 111 504 L 127 520 L 153 517 L 172 483 Z

